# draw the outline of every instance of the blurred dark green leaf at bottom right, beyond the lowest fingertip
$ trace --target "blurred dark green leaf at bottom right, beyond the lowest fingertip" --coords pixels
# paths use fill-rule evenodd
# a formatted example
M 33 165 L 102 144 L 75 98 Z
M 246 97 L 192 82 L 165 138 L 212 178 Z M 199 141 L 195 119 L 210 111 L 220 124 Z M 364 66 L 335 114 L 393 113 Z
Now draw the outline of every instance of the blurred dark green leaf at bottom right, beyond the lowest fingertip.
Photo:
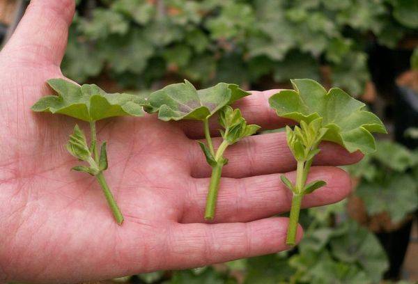
M 373 283 L 378 283 L 382 273 L 389 267 L 379 240 L 355 221 L 347 222 L 346 226 L 346 233 L 331 239 L 332 254 L 343 262 L 359 265 Z

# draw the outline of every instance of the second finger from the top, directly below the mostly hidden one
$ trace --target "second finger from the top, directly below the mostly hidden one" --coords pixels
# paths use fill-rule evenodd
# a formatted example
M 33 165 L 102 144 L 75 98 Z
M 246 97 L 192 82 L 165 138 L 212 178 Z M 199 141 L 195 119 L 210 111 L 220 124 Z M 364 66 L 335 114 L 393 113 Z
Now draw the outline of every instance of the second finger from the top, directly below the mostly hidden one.
M 198 143 L 193 141 L 189 147 L 191 175 L 194 178 L 207 178 L 211 168 Z M 213 139 L 215 148 L 221 139 Z M 321 151 L 314 159 L 314 165 L 341 166 L 354 164 L 363 155 L 360 152 L 350 154 L 340 145 L 330 142 L 320 144 Z M 286 133 L 271 133 L 250 136 L 235 145 L 229 146 L 224 153 L 229 159 L 222 170 L 222 176 L 245 178 L 252 175 L 285 173 L 296 168 L 296 161 L 286 143 Z

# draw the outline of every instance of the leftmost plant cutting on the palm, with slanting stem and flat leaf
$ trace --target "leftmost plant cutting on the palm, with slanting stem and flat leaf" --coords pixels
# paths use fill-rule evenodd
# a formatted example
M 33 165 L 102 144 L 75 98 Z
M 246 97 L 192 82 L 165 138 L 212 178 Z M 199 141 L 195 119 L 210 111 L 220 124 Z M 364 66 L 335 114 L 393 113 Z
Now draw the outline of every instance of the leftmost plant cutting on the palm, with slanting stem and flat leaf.
M 47 84 L 58 95 L 41 97 L 31 109 L 61 113 L 89 123 L 90 145 L 82 129 L 75 125 L 74 132 L 70 135 L 65 148 L 79 161 L 85 161 L 88 164 L 88 166 L 75 166 L 72 170 L 88 173 L 98 180 L 116 222 L 121 225 L 123 215 L 103 175 L 108 168 L 106 142 L 102 143 L 99 154 L 95 123 L 103 118 L 114 116 L 142 116 L 145 100 L 137 95 L 125 93 L 109 94 L 94 84 L 79 86 L 64 79 L 49 79 Z

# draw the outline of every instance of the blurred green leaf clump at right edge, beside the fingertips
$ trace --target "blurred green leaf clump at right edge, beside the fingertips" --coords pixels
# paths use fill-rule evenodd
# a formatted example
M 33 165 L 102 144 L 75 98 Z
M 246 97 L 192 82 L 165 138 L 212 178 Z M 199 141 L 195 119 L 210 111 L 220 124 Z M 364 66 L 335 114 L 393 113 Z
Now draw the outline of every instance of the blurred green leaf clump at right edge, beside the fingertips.
M 418 151 L 391 141 L 378 141 L 377 150 L 349 166 L 359 178 L 355 194 L 367 213 L 387 212 L 393 223 L 418 210 Z

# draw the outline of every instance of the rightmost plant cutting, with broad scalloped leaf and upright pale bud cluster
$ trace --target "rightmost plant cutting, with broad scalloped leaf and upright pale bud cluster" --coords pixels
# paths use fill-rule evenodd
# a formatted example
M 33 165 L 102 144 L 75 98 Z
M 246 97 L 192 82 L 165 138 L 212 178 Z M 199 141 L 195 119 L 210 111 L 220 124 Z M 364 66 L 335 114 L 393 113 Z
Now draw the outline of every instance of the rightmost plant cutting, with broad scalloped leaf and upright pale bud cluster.
M 376 150 L 371 132 L 387 132 L 376 115 L 364 110 L 364 103 L 340 88 L 327 91 L 311 79 L 291 82 L 295 90 L 281 90 L 269 102 L 278 116 L 300 123 L 293 129 L 286 127 L 288 147 L 297 161 L 296 180 L 291 182 L 281 175 L 281 181 L 293 192 L 286 244 L 294 245 L 303 196 L 326 184 L 323 180 L 307 184 L 312 161 L 320 152 L 319 143 L 332 141 L 348 152 L 368 154 Z

